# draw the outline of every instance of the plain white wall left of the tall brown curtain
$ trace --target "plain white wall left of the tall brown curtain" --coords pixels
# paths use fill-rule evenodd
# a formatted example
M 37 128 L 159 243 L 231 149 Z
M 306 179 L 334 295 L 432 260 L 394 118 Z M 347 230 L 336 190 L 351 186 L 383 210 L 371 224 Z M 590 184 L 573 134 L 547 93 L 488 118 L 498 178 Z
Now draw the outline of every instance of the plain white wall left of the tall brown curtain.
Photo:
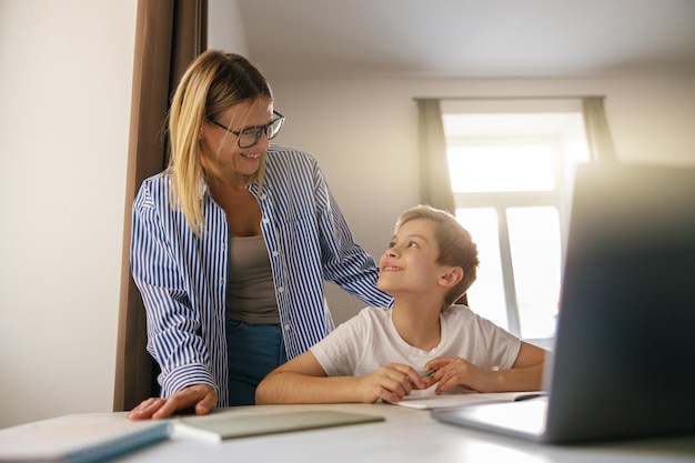
M 112 410 L 135 17 L 0 1 L 0 427 Z

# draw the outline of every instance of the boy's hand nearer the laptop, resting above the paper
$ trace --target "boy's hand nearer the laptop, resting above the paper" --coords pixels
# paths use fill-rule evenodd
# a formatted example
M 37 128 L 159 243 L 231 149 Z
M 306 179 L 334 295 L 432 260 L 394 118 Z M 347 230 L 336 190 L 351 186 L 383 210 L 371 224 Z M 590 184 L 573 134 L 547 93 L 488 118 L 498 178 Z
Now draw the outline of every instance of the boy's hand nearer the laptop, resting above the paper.
M 434 390 L 437 395 L 455 386 L 477 392 L 494 392 L 496 389 L 495 372 L 480 369 L 460 358 L 434 359 L 427 362 L 425 369 L 435 370 L 430 384 L 439 382 Z

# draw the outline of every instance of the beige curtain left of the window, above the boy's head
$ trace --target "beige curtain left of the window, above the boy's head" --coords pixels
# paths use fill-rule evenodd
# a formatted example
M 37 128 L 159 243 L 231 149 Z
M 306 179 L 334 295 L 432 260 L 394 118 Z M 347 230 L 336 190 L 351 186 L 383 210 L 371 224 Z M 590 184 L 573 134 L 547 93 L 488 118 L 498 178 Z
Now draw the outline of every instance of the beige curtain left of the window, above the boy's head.
M 417 100 L 417 111 L 421 202 L 455 213 L 440 100 Z

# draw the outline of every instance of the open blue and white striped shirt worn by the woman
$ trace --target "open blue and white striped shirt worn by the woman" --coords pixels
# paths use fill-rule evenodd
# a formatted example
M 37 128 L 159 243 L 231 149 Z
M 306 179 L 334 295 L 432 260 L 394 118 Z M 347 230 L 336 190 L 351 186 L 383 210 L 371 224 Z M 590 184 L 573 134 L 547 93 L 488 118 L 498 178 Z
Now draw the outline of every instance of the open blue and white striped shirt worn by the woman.
M 203 195 L 200 236 L 169 201 L 171 175 L 147 179 L 133 203 L 131 272 L 147 311 L 148 351 L 161 366 L 162 396 L 208 383 L 228 405 L 225 340 L 229 224 L 210 192 Z M 374 260 L 354 243 L 316 160 L 279 145 L 266 152 L 261 205 L 288 358 L 333 330 L 323 281 L 369 305 L 390 306 L 376 288 Z

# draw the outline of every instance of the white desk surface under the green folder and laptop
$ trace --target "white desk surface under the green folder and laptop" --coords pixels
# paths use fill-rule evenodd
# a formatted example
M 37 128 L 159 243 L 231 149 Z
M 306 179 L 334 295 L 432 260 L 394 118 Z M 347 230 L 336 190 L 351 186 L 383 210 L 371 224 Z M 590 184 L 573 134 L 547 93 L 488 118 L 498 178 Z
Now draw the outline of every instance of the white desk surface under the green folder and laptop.
M 385 421 L 228 440 L 221 444 L 178 439 L 118 462 L 695 462 L 695 435 L 556 446 L 440 423 L 429 411 L 390 404 L 261 405 L 218 413 L 241 416 L 300 410 L 367 413 L 384 416 Z

